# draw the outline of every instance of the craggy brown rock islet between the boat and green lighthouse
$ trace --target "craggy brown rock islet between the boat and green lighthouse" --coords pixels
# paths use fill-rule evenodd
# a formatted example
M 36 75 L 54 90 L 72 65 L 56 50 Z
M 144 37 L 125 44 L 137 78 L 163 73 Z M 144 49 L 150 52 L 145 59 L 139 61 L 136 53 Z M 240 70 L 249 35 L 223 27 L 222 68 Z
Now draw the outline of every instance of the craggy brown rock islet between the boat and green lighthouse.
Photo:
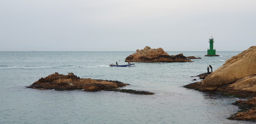
M 191 62 L 182 53 L 178 55 L 169 55 L 162 48 L 151 49 L 146 46 L 142 50 L 126 57 L 126 62 Z

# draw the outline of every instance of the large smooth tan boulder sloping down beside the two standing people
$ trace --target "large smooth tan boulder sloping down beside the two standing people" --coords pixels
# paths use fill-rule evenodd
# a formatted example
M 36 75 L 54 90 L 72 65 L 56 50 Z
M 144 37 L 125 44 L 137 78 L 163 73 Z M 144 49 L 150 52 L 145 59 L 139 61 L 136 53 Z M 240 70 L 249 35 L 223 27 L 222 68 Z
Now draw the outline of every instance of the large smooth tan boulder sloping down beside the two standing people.
M 255 93 L 256 46 L 226 60 L 220 68 L 197 84 L 189 85 L 194 85 L 195 89 L 205 92 L 215 90 L 229 93 Z

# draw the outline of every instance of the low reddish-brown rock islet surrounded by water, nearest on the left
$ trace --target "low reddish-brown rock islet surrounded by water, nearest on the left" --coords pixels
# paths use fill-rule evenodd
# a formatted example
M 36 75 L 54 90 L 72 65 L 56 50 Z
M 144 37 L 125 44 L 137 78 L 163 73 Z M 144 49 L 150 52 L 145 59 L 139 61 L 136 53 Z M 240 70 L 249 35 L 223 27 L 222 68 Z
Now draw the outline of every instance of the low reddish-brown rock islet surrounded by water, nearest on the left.
M 112 80 L 100 80 L 100 79 L 83 79 L 77 77 L 73 73 L 68 73 L 68 75 L 63 75 L 59 73 L 48 75 L 45 78 L 41 78 L 35 83 L 31 84 L 27 88 L 37 88 L 37 89 L 55 89 L 55 90 L 75 90 L 83 89 L 84 91 L 102 91 L 116 89 L 130 85 L 127 83 L 122 83 L 120 81 Z M 143 91 L 147 92 L 147 91 Z M 130 93 L 127 91 L 127 93 Z M 132 92 L 141 94 L 140 92 Z M 148 94 L 154 94 L 149 92 Z

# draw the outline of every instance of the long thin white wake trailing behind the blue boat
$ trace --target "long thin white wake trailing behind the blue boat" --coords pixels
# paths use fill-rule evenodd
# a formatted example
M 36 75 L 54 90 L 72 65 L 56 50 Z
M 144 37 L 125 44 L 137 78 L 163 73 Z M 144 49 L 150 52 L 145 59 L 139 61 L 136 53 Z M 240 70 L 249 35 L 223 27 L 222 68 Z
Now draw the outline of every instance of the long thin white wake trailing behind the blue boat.
M 95 65 L 95 66 L 83 66 L 83 65 L 66 65 L 66 66 L 0 66 L 0 69 L 47 69 L 47 68 L 95 68 L 95 67 L 109 67 L 108 65 Z

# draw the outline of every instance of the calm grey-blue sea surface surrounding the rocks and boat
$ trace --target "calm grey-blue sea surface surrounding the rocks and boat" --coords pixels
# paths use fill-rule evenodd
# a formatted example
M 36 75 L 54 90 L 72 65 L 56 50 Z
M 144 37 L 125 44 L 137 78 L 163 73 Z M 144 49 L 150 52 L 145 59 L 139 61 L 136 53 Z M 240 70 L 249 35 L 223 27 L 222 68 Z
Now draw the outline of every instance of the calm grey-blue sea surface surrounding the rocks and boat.
M 169 55 L 201 57 L 192 63 L 143 63 L 109 67 L 135 51 L 0 52 L 1 124 L 249 124 L 226 119 L 239 111 L 237 98 L 223 98 L 182 86 L 196 76 L 217 69 L 241 51 L 167 51 Z M 110 61 L 110 62 L 109 62 Z M 80 78 L 118 80 L 125 89 L 155 95 L 113 91 L 55 91 L 26 88 L 41 77 L 70 72 Z

